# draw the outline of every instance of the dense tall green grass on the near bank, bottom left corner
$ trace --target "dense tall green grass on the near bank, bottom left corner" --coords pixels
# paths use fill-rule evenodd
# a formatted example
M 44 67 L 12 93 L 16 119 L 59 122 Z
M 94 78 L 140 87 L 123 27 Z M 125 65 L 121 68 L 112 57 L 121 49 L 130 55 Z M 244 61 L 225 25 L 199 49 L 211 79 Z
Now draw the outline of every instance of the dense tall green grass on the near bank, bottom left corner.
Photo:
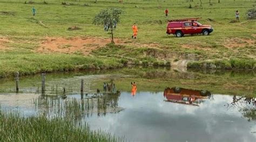
M 124 141 L 61 117 L 22 117 L 17 112 L 1 110 L 0 132 L 0 141 Z

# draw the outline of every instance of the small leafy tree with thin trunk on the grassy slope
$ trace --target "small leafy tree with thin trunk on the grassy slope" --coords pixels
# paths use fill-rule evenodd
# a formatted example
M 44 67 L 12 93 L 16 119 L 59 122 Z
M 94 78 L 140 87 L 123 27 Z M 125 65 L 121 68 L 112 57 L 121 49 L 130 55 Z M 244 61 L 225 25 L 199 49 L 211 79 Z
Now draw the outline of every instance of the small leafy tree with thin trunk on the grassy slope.
M 120 15 L 123 10 L 117 8 L 104 9 L 100 11 L 93 19 L 93 24 L 95 25 L 107 25 L 110 28 L 111 33 L 111 43 L 114 44 L 114 25 L 120 22 Z

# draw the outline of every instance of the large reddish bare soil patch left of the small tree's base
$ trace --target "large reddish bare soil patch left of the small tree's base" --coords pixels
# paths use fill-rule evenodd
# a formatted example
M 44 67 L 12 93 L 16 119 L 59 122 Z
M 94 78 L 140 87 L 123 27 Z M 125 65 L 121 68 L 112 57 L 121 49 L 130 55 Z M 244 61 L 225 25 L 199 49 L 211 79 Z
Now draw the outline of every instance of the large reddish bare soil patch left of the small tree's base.
M 115 39 L 116 44 L 124 44 L 125 40 Z M 96 38 L 96 37 L 46 37 L 41 43 L 37 52 L 60 52 L 60 53 L 82 53 L 89 55 L 93 50 L 110 43 L 109 38 Z

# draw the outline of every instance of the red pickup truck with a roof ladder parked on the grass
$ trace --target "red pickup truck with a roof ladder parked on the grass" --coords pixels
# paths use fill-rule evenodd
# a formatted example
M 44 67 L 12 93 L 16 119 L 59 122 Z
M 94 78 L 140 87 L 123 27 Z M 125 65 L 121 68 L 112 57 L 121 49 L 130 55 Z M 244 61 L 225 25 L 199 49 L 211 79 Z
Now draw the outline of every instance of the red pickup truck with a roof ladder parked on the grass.
M 167 34 L 173 34 L 176 37 L 183 37 L 185 34 L 198 34 L 202 33 L 207 36 L 213 28 L 210 25 L 203 25 L 197 22 L 199 18 L 176 19 L 169 21 L 167 25 Z

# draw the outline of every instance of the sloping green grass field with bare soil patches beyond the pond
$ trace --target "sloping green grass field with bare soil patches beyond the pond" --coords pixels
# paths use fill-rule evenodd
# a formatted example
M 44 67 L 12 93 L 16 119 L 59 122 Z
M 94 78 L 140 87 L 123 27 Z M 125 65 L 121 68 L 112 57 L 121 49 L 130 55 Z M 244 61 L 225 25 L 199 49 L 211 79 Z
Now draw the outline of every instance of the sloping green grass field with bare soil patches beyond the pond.
M 246 11 L 255 8 L 250 0 L 221 0 L 191 2 L 184 1 L 0 1 L 0 77 L 29 75 L 42 71 L 69 71 L 84 68 L 120 67 L 124 60 L 132 63 L 171 62 L 180 65 L 193 60 L 255 60 L 256 28 L 255 20 L 246 19 Z M 86 5 L 84 5 L 86 4 Z M 32 16 L 35 6 L 37 14 Z M 73 37 L 109 38 L 103 26 L 92 24 L 93 17 L 105 8 L 120 8 L 125 11 L 114 35 L 122 40 L 120 46 L 97 47 L 92 44 L 72 50 L 70 43 L 59 45 L 58 51 L 42 48 L 46 38 Z M 168 8 L 169 17 L 164 16 Z M 240 11 L 240 22 L 232 23 L 235 10 Z M 186 36 L 176 38 L 166 35 L 167 19 L 203 17 L 200 23 L 210 24 L 214 32 L 210 36 Z M 231 22 L 231 23 L 230 23 Z M 131 26 L 137 23 L 138 39 L 132 40 Z M 71 26 L 80 30 L 69 31 Z M 55 39 L 54 39 L 55 40 Z M 50 40 L 54 41 L 53 39 Z M 87 48 L 87 49 L 86 49 Z M 40 49 L 40 50 L 38 50 Z M 90 50 L 89 50 L 90 49 Z M 61 52 L 66 50 L 65 52 Z M 83 50 L 89 50 L 84 54 Z M 122 60 L 123 59 L 123 60 Z M 186 64 L 185 64 L 186 65 Z M 83 67 L 81 67 L 83 66 Z M 255 62 L 252 65 L 255 68 Z M 245 67 L 246 68 L 246 67 Z

